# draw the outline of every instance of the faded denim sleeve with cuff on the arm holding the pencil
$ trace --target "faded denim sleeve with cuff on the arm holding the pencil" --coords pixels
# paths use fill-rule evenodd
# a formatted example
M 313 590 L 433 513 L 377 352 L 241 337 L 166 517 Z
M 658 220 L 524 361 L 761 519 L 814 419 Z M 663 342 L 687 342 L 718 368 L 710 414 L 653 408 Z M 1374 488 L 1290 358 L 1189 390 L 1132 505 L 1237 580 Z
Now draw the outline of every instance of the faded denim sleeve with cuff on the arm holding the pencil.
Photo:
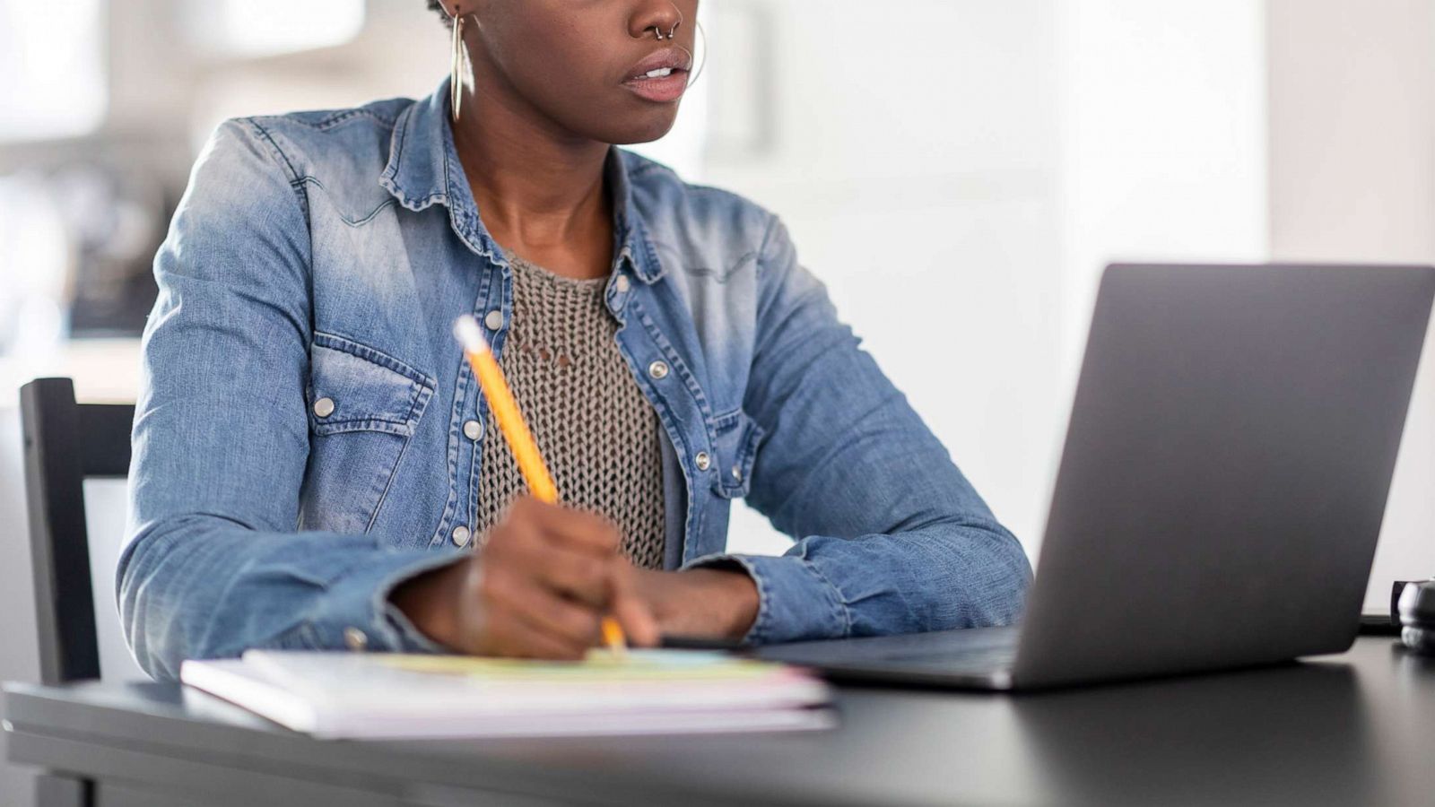
M 228 122 L 155 258 L 116 572 L 126 639 L 155 678 L 248 648 L 438 649 L 387 593 L 455 556 L 298 528 L 313 332 L 304 204 L 267 132 Z

